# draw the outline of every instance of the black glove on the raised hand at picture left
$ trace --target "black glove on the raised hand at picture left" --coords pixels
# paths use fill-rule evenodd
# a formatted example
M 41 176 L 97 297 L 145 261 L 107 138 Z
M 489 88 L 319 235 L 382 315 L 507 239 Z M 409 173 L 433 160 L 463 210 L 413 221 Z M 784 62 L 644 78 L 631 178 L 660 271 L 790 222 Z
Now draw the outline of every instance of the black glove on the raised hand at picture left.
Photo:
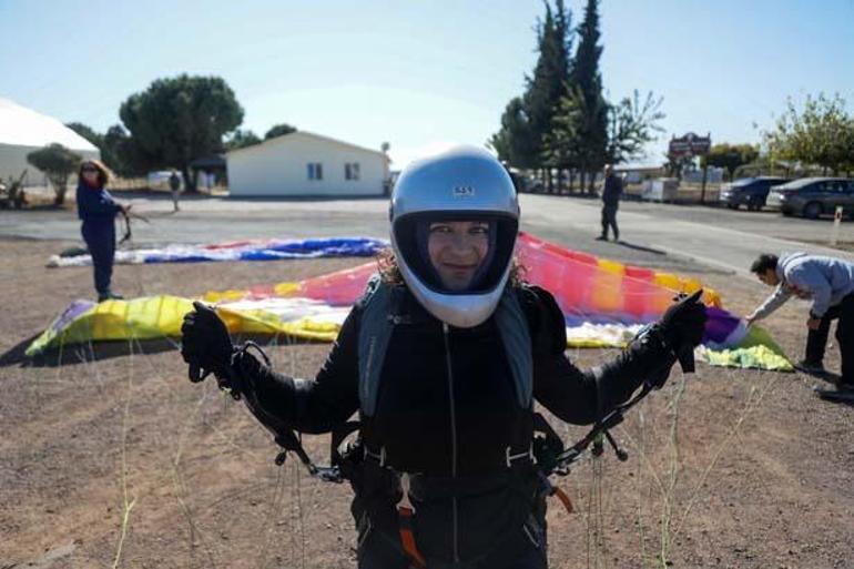
M 210 306 L 196 301 L 193 307 L 181 326 L 181 355 L 190 364 L 190 380 L 201 382 L 210 373 L 226 378 L 234 352 L 228 329 Z

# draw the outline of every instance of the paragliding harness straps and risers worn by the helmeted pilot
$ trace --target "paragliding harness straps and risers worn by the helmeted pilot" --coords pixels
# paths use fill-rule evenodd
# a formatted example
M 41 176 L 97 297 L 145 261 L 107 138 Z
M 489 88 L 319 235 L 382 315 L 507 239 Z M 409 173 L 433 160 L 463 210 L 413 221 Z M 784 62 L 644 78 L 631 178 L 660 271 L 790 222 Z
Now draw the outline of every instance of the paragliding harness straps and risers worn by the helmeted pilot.
M 378 390 L 379 368 L 382 366 L 374 366 L 373 364 L 375 362 L 383 362 L 393 326 L 398 323 L 396 319 L 397 316 L 388 312 L 390 301 L 388 291 L 389 287 L 380 284 L 376 280 L 372 280 L 372 282 L 368 283 L 368 289 L 365 297 L 363 327 L 360 329 L 362 333 L 359 338 L 359 398 L 363 417 L 370 416 L 375 409 L 374 405 L 376 403 Z M 516 301 L 515 295 L 505 295 L 505 298 L 502 298 L 499 304 L 499 308 L 496 311 L 496 319 L 498 322 L 499 331 L 501 331 L 508 354 L 514 356 L 508 357 L 508 360 L 511 365 L 514 362 L 517 363 L 512 370 L 520 404 L 526 402 L 525 397 L 527 397 L 528 399 L 525 404 L 525 408 L 531 408 L 532 376 L 530 366 L 532 356 L 530 352 L 530 335 L 528 332 L 527 319 L 521 313 L 521 307 L 519 306 L 518 301 Z M 519 326 L 520 319 L 521 326 Z M 506 327 L 511 324 L 516 326 L 516 332 L 514 334 L 505 333 L 502 326 Z M 366 328 L 365 325 L 376 325 L 376 327 Z M 366 334 L 368 331 L 370 331 L 370 333 Z M 638 333 L 636 338 L 643 338 L 644 335 L 654 335 L 653 328 L 649 325 L 645 326 Z M 365 338 L 364 343 L 363 338 Z M 521 349 L 522 346 L 525 346 L 525 349 Z M 242 347 L 237 348 L 232 356 L 232 360 L 251 348 L 254 348 L 264 359 L 265 364 L 270 366 L 270 359 L 266 354 L 264 354 L 263 349 L 254 342 L 246 342 Z M 527 357 L 525 357 L 526 354 Z M 515 357 L 517 355 L 519 356 L 518 358 Z M 693 373 L 694 360 L 692 349 L 682 350 L 677 357 L 684 373 Z M 519 362 L 521 363 L 519 364 Z M 527 378 L 525 375 L 526 372 Z M 191 370 L 191 375 L 192 373 L 193 372 Z M 667 373 L 669 373 L 669 367 L 667 368 Z M 196 370 L 196 375 L 199 372 Z M 236 382 L 240 382 L 240 378 L 226 378 L 221 382 L 221 387 L 228 387 L 228 385 L 226 385 L 228 382 L 233 382 L 232 385 L 236 386 L 238 385 Z M 592 455 L 600 456 L 604 450 L 604 440 L 607 440 L 614 450 L 619 460 L 627 460 L 629 456 L 628 453 L 618 446 L 609 430 L 621 424 L 624 419 L 624 414 L 647 397 L 657 385 L 661 384 L 663 384 L 663 380 L 659 383 L 655 382 L 654 378 L 653 380 L 645 382 L 641 390 L 634 397 L 602 416 L 587 435 L 569 447 L 563 445 L 561 438 L 541 414 L 533 413 L 533 438 L 531 450 L 525 453 L 523 456 L 511 456 L 508 450 L 507 466 L 510 467 L 512 461 L 518 458 L 532 459 L 539 476 L 539 497 L 545 500 L 548 496 L 555 496 L 561 501 L 567 511 L 572 512 L 573 508 L 569 497 L 558 486 L 551 482 L 550 477 L 552 475 L 561 477 L 569 475 L 570 466 L 578 461 L 591 445 Z M 235 399 L 240 399 L 241 389 L 233 389 L 232 396 Z M 260 405 L 254 404 L 251 396 L 245 397 L 245 403 L 253 415 L 255 415 L 273 434 L 276 444 L 282 448 L 282 451 L 278 453 L 275 458 L 275 464 L 278 466 L 285 464 L 288 453 L 293 453 L 306 467 L 311 476 L 323 481 L 336 484 L 342 484 L 345 480 L 350 480 L 353 482 L 354 471 L 367 459 L 373 459 L 380 467 L 389 468 L 385 465 L 384 453 L 382 450 L 379 454 L 372 453 L 360 436 L 357 436 L 354 440 L 347 440 L 347 437 L 360 430 L 360 421 L 346 421 L 333 429 L 329 465 L 319 466 L 315 464 L 305 451 L 299 436 L 293 427 L 264 411 Z M 370 414 L 366 413 L 367 409 L 370 410 Z M 354 487 L 354 489 L 356 488 Z M 404 500 L 407 501 L 405 494 L 406 490 L 404 490 Z M 413 509 L 404 505 L 398 506 L 397 509 L 401 549 L 410 561 L 410 567 L 416 569 L 425 568 L 426 561 L 417 549 L 413 534 Z

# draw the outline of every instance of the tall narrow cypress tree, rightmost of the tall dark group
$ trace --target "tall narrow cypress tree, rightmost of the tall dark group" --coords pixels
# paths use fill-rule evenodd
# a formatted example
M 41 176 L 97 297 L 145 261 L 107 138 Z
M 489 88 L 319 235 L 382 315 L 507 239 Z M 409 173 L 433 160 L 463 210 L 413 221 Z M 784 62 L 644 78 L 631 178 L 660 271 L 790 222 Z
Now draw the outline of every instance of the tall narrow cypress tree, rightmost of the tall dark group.
M 602 167 L 608 143 L 608 103 L 602 96 L 602 74 L 599 71 L 599 0 L 588 0 L 584 19 L 578 27 L 578 51 L 572 61 L 570 96 L 580 98 L 578 125 L 580 169 L 593 173 Z M 591 175 L 590 182 L 592 187 Z

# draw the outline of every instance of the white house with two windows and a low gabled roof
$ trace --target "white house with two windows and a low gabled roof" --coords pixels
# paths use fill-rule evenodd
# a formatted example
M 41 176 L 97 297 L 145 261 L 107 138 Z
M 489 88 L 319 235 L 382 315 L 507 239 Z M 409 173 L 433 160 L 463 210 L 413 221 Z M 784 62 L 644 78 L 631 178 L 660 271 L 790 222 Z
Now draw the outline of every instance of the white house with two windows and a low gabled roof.
M 225 155 L 233 196 L 383 195 L 388 158 L 305 131 L 296 131 Z

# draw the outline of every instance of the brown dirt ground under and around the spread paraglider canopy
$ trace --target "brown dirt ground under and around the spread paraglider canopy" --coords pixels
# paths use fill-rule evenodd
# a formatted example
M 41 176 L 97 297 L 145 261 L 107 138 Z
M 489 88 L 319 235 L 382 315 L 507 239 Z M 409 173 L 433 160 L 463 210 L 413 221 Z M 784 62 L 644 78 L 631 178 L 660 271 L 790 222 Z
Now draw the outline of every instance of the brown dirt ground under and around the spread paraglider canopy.
M 62 365 L 20 360 L 26 341 L 73 298 L 92 296 L 90 268 L 48 270 L 60 242 L 0 241 L 0 569 L 355 567 L 349 488 L 311 479 L 242 404 L 192 385 L 174 349 L 125 346 Z M 298 280 L 360 263 L 319 260 L 118 266 L 129 296 Z M 700 274 L 744 313 L 769 291 Z M 805 306 L 767 326 L 792 357 Z M 311 377 L 328 346 L 268 349 L 275 366 Z M 611 350 L 573 350 L 587 366 Z M 827 365 L 838 369 L 835 342 Z M 549 510 L 552 568 L 854 567 L 854 409 L 812 394 L 796 374 L 674 372 L 560 486 L 575 502 Z M 586 433 L 560 426 L 567 441 Z M 323 460 L 328 439 L 307 448 Z

